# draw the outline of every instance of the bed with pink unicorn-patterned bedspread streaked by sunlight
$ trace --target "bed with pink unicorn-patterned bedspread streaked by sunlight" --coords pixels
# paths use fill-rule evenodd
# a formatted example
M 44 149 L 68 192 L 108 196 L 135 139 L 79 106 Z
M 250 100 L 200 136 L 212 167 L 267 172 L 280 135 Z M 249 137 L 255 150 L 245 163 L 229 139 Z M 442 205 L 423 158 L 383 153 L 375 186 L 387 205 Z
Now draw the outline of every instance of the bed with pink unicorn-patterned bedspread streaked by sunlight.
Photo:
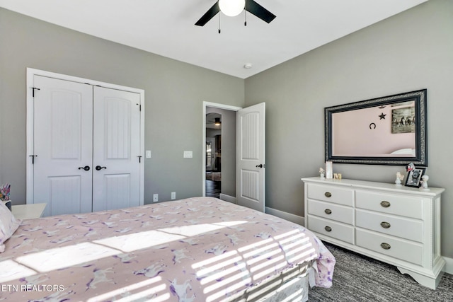
M 304 227 L 212 197 L 28 219 L 4 248 L 0 301 L 306 301 L 335 265 Z

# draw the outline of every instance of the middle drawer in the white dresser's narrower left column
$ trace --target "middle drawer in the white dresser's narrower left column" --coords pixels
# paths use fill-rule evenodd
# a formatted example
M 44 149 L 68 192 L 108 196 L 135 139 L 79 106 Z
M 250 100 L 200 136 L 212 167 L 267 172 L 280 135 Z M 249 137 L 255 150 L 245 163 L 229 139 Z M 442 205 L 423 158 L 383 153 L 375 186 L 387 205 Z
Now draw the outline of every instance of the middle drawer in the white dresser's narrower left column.
M 350 225 L 354 224 L 354 209 L 339 204 L 309 199 L 309 214 Z

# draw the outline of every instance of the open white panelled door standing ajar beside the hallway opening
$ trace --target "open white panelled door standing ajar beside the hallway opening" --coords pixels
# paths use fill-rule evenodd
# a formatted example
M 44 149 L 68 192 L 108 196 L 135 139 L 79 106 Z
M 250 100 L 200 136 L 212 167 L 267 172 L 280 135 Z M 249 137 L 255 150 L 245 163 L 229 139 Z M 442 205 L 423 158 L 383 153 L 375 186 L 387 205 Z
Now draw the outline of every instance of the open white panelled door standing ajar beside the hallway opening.
M 265 103 L 237 112 L 236 199 L 265 211 Z

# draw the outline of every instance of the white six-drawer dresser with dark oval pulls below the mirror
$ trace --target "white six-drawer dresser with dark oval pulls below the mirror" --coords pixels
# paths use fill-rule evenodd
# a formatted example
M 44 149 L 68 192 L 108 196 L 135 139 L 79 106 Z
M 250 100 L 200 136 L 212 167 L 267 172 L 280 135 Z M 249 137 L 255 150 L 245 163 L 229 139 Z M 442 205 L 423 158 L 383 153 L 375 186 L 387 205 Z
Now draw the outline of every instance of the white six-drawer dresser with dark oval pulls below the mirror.
M 445 260 L 440 255 L 440 197 L 382 182 L 302 178 L 305 227 L 329 243 L 395 265 L 435 289 Z

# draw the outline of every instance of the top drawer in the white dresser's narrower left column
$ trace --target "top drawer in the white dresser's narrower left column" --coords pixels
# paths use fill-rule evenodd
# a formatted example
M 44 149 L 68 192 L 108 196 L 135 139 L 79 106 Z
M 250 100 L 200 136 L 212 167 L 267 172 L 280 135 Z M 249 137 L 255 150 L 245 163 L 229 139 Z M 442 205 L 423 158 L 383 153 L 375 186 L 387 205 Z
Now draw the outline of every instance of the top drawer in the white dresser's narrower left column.
M 311 199 L 344 204 L 352 207 L 354 204 L 354 190 L 328 185 L 308 185 L 308 197 Z

